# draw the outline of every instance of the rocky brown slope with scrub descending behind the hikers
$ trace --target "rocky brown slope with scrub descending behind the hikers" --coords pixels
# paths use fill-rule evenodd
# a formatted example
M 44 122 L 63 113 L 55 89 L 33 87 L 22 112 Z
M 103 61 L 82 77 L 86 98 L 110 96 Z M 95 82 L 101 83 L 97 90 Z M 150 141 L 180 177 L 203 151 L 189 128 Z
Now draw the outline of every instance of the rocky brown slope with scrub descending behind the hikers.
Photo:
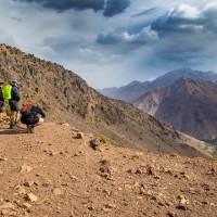
M 0 77 L 21 80 L 22 101 L 33 99 L 52 122 L 67 122 L 137 150 L 210 156 L 201 143 L 192 149 L 191 140 L 183 140 L 171 126 L 133 105 L 103 97 L 75 73 L 16 48 L 0 46 Z

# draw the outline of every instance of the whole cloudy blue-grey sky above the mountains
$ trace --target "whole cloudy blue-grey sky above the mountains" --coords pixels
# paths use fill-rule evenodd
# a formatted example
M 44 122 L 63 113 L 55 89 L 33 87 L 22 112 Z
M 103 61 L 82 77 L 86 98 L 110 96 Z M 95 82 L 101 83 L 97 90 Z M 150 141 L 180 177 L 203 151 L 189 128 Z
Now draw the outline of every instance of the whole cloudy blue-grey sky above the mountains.
M 95 89 L 182 67 L 217 72 L 215 0 L 0 0 L 0 43 Z

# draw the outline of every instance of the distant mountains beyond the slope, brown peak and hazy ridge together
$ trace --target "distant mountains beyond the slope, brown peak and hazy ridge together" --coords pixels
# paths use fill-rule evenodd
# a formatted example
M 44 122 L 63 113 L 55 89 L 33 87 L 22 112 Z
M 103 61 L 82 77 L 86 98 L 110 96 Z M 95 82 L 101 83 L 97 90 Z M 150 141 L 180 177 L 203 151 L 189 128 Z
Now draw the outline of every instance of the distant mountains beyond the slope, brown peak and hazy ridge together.
M 112 90 L 111 97 L 131 102 L 136 107 L 178 130 L 208 141 L 217 137 L 216 82 L 217 74 L 212 71 L 180 68 L 153 81 L 133 81 L 117 88 L 117 94 L 113 88 L 105 90 L 107 95 Z

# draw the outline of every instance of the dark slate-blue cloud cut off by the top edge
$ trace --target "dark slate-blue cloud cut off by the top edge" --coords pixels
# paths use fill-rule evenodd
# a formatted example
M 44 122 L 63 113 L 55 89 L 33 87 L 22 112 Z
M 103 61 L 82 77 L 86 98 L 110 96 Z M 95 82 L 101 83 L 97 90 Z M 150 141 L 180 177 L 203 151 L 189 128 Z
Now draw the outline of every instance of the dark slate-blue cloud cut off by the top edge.
M 104 16 L 113 16 L 123 13 L 130 5 L 129 0 L 14 0 L 27 3 L 39 3 L 43 8 L 49 8 L 63 12 L 69 9 L 103 11 Z

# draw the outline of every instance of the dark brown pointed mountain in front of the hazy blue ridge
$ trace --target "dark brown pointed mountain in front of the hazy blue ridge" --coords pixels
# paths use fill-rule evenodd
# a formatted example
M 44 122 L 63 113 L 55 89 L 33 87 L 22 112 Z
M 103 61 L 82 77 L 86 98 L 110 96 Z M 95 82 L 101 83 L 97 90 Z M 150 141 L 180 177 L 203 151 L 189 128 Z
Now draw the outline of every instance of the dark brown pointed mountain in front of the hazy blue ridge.
M 182 77 L 145 93 L 135 103 L 143 112 L 197 139 L 217 137 L 217 85 Z

